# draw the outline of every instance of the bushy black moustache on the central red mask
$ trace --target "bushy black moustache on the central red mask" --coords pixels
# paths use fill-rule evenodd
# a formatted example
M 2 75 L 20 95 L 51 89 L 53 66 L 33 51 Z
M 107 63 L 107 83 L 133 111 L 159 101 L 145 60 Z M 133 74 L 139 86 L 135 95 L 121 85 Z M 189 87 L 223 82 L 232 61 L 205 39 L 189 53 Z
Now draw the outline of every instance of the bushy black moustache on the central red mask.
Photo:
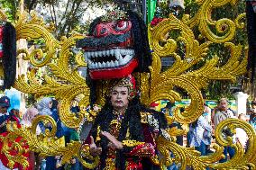
M 93 47 L 100 47 L 102 48 L 103 46 L 107 47 L 112 44 L 118 44 L 125 42 L 131 37 L 130 31 L 122 34 L 122 35 L 107 35 L 105 37 L 101 38 L 95 38 L 95 37 L 88 37 L 85 39 L 81 39 L 77 41 L 76 47 L 77 48 L 93 48 Z

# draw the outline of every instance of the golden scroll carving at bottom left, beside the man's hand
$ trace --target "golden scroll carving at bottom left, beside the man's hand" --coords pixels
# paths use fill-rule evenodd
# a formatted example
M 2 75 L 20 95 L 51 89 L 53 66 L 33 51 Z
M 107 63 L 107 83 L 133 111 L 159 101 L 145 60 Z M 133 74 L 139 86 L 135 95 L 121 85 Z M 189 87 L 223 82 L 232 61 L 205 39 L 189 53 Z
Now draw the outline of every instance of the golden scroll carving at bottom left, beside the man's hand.
M 39 125 L 39 122 L 48 122 L 51 124 L 52 130 L 46 130 L 45 134 L 40 134 L 39 136 L 36 135 L 36 128 Z M 84 149 L 80 142 L 78 141 L 72 141 L 70 142 L 66 147 L 65 144 L 62 145 L 59 141 L 60 139 L 57 139 L 55 137 L 56 133 L 56 122 L 50 117 L 50 116 L 38 116 L 32 121 L 32 127 L 31 128 L 17 128 L 16 126 L 13 126 L 10 129 L 10 137 L 12 139 L 16 137 L 17 135 L 21 135 L 23 139 L 27 141 L 27 143 L 30 146 L 30 150 L 33 150 L 35 152 L 39 152 L 41 157 L 48 157 L 48 156 L 62 156 L 61 157 L 61 164 L 66 164 L 69 162 L 69 160 L 72 157 L 78 157 L 81 163 L 86 166 L 87 168 L 95 167 L 98 165 L 99 157 L 87 157 L 92 160 L 92 163 L 88 164 L 85 162 L 85 160 L 80 159 L 81 154 L 83 154 L 83 157 L 85 157 L 85 151 L 88 151 L 88 149 Z M 7 139 L 7 138 L 5 138 Z M 15 145 L 15 147 L 17 147 Z M 13 149 L 13 148 L 8 148 Z M 18 152 L 22 154 L 23 152 Z M 10 157 L 10 161 L 13 159 Z M 15 157 L 15 162 L 19 160 L 23 160 L 22 158 Z M 20 162 L 19 162 L 20 163 Z M 23 165 L 29 165 L 27 160 L 23 160 Z M 25 167 L 25 166 L 23 166 Z

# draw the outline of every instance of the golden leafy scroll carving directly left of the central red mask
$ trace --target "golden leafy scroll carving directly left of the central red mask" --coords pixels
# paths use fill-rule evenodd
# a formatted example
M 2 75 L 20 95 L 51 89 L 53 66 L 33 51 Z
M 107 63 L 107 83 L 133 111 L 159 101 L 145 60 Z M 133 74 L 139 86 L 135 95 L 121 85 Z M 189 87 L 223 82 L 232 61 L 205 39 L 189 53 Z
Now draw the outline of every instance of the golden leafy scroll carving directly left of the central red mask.
M 42 39 L 45 42 L 45 49 L 33 49 L 31 53 L 27 49 L 20 49 L 19 53 L 24 53 L 24 59 L 29 59 L 34 67 L 50 67 L 54 76 L 44 75 L 45 83 L 41 85 L 35 78 L 35 70 L 32 70 L 27 74 L 27 78 L 19 76 L 14 87 L 27 94 L 54 94 L 57 99 L 63 99 L 59 112 L 60 119 L 70 128 L 78 128 L 79 122 L 85 115 L 79 114 L 76 117 L 69 112 L 69 105 L 78 94 L 84 94 L 82 101 L 87 105 L 89 89 L 85 78 L 78 74 L 78 67 L 72 70 L 69 68 L 69 58 L 75 55 L 71 48 L 74 47 L 76 40 L 83 36 L 72 35 L 68 39 L 63 37 L 59 41 L 50 33 L 52 29 L 46 27 L 35 13 L 32 13 L 31 20 L 27 18 L 26 13 L 20 15 L 20 20 L 16 24 L 17 39 Z M 78 59 L 76 61 L 80 66 L 85 66 L 81 62 L 80 54 L 75 55 L 75 58 Z

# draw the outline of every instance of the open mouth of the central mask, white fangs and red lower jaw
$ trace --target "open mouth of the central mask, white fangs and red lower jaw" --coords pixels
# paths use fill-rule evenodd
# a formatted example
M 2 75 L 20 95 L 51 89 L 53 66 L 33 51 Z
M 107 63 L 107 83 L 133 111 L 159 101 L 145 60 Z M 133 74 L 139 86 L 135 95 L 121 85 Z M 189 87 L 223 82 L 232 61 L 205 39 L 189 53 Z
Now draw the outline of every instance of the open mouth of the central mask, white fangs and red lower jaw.
M 133 49 L 86 51 L 85 58 L 93 79 L 120 78 L 133 72 L 138 60 Z

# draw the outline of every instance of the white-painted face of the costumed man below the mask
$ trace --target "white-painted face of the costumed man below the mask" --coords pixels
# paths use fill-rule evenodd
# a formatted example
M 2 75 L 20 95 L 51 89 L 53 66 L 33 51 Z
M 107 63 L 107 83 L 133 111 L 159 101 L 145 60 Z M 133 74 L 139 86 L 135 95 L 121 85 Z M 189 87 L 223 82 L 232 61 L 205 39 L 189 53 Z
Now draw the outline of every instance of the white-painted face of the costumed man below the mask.
M 111 103 L 115 110 L 123 110 L 128 106 L 128 88 L 115 85 L 111 92 Z

